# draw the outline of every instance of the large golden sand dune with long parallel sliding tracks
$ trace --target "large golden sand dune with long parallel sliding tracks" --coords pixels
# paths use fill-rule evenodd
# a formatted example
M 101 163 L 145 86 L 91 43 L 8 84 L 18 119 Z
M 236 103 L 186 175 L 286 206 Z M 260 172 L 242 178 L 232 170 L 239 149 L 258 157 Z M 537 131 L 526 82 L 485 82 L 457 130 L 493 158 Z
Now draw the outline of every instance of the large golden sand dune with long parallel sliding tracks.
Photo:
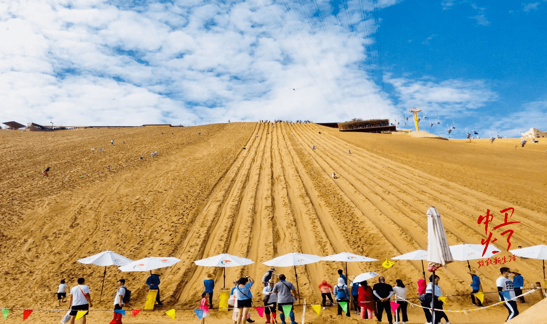
M 403 279 L 410 296 L 416 292 L 421 264 L 399 261 L 385 269 L 381 262 L 427 248 L 425 212 L 430 206 L 443 216 L 450 244 L 480 244 L 485 233 L 478 216 L 490 209 L 499 223 L 499 210 L 507 207 L 515 208 L 512 220 L 521 221 L 513 227 L 511 249 L 547 243 L 547 143 L 515 149 L 518 139 L 492 144 L 488 139 L 439 141 L 286 123 L 2 131 L 0 138 L 0 279 L 10 282 L 0 288 L 0 307 L 51 308 L 57 281 L 67 279 L 71 286 L 79 276 L 87 278 L 98 301 L 103 268 L 75 261 L 107 249 L 133 260 L 181 258 L 175 266 L 158 270 L 162 298 L 176 308 L 198 304 L 206 273 L 216 276 L 218 294 L 222 269 L 197 267 L 193 261 L 223 252 L 255 261 L 226 270 L 230 287 L 245 274 L 260 281 L 267 269 L 262 262 L 287 252 L 324 256 L 348 251 L 380 260 L 348 263 L 350 275 L 376 271 L 391 284 Z M 150 157 L 156 150 L 159 155 Z M 51 166 L 47 178 L 40 174 L 46 166 Z M 333 170 L 338 179 L 330 178 Z M 503 238 L 494 245 L 503 251 L 500 255 L 509 255 Z M 508 265 L 521 270 L 526 286 L 541 279 L 540 261 L 517 259 Z M 472 268 L 477 266 L 472 262 Z M 299 267 L 302 299 L 319 302 L 317 285 L 323 279 L 334 285 L 341 267 L 339 262 Z M 498 269 L 478 269 L 485 291 L 496 290 Z M 294 282 L 292 268 L 278 272 Z M 441 270 L 443 292 L 470 292 L 466 272 L 464 262 Z M 147 274 L 110 267 L 103 302 L 96 309 L 109 309 L 114 282 L 121 276 L 133 291 L 133 308 L 143 307 L 138 301 L 144 302 Z M 252 291 L 258 303 L 259 282 Z M 487 298 L 496 301 L 495 296 Z M 538 297 L 527 299 L 535 302 Z M 449 300 L 446 309 L 472 306 L 468 297 Z M 522 311 L 529 305 L 519 306 Z M 110 316 L 99 313 L 89 320 Z M 39 321 L 37 314 L 27 321 Z M 155 321 L 154 314 L 131 321 Z M 195 319 L 191 311 L 183 314 Z M 327 310 L 322 317 L 340 322 L 330 319 L 333 314 Z M 452 322 L 500 323 L 506 314 L 503 307 L 494 307 L 449 317 Z M 44 315 L 42 321 L 58 321 L 55 316 Z M 228 317 L 213 314 L 208 321 L 220 323 Z M 423 323 L 417 308 L 410 317 L 409 323 Z M 310 314 L 309 320 L 318 316 Z M 346 321 L 353 320 L 341 322 Z

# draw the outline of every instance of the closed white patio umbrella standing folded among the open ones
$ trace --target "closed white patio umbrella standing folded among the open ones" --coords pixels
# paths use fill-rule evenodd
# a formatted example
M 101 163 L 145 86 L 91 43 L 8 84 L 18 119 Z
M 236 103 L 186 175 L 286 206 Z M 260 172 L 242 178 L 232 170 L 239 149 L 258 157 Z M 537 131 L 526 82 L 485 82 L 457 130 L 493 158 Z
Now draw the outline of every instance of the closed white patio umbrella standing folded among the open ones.
M 433 298 L 431 298 L 431 312 L 435 322 L 435 270 L 453 262 L 452 254 L 446 239 L 446 233 L 441 215 L 435 207 L 427 210 L 427 270 L 433 272 Z

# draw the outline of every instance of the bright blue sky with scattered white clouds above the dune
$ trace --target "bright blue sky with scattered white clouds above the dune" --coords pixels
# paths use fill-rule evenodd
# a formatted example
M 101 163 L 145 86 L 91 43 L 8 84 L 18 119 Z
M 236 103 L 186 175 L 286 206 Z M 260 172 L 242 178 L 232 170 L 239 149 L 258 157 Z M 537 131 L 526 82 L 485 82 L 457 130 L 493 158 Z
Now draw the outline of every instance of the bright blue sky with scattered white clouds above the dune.
M 456 138 L 518 137 L 547 129 L 546 12 L 545 0 L 8 0 L 0 117 L 405 127 L 422 107 L 433 133 L 453 122 Z

